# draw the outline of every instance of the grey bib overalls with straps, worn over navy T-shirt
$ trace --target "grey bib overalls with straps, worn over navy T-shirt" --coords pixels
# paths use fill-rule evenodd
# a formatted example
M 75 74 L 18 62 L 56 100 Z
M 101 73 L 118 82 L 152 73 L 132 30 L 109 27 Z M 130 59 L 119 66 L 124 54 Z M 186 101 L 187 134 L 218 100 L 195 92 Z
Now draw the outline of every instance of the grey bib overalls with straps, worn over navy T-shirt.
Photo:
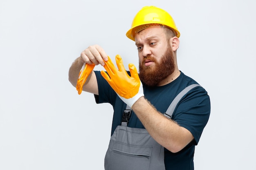
M 181 91 L 164 115 L 171 119 L 180 99 L 192 88 L 191 84 Z M 117 126 L 110 138 L 105 156 L 105 170 L 165 170 L 164 147 L 158 144 L 146 129 L 127 126 L 131 108 L 126 106 L 121 126 Z

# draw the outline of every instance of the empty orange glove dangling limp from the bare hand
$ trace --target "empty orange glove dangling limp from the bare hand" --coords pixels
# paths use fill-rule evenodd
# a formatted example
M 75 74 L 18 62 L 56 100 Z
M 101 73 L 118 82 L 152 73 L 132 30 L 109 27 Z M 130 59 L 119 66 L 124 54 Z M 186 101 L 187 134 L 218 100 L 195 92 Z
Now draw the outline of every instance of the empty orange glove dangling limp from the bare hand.
M 83 85 L 85 84 L 86 79 L 92 72 L 94 66 L 95 66 L 94 64 L 86 64 L 86 63 L 83 64 L 83 67 L 80 70 L 79 77 L 76 82 L 76 90 L 78 91 L 79 95 L 82 93 Z

